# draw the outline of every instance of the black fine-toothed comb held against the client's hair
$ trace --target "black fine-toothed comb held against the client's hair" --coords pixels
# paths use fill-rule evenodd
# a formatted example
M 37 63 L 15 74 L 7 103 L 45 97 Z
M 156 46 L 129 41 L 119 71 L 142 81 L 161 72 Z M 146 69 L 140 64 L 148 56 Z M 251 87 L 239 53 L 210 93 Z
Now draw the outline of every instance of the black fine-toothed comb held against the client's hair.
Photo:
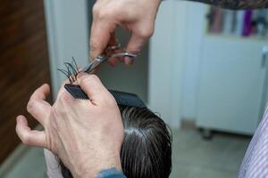
M 71 93 L 71 96 L 75 99 L 89 100 L 88 95 L 83 92 L 80 85 L 66 84 L 64 88 Z M 133 106 L 137 108 L 147 108 L 143 101 L 138 98 L 138 95 L 133 93 L 125 93 L 114 90 L 109 90 L 113 94 L 113 97 L 118 105 Z

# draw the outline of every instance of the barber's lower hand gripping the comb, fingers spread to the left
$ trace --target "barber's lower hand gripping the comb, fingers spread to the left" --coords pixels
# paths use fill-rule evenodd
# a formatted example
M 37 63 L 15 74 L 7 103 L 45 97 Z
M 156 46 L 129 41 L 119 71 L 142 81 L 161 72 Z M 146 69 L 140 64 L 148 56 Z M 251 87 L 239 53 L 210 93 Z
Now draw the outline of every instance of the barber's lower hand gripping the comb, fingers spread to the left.
M 17 134 L 29 146 L 54 152 L 75 177 L 95 177 L 111 167 L 121 170 L 123 126 L 113 95 L 94 75 L 80 74 L 78 84 L 90 100 L 75 100 L 62 87 L 53 106 L 45 101 L 49 86 L 39 87 L 27 109 L 44 131 L 31 130 L 19 116 Z

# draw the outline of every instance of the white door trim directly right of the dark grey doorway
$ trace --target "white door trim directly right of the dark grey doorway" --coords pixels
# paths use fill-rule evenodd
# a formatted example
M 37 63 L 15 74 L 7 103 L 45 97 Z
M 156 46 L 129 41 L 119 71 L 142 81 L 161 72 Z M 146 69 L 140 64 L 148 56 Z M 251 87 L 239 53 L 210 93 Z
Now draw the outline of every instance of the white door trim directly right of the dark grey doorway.
M 149 46 L 149 106 L 172 127 L 180 126 L 186 2 L 164 1 Z

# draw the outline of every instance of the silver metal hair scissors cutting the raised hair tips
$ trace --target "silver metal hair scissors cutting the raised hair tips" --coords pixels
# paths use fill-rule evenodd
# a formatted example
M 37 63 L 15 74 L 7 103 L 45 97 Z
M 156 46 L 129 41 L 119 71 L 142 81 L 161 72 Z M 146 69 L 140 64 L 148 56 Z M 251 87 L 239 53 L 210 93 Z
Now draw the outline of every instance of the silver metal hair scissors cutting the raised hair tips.
M 130 57 L 132 59 L 135 59 L 138 57 L 138 53 L 130 53 L 122 49 L 121 44 L 111 45 L 105 49 L 105 53 L 97 56 L 94 61 L 91 61 L 88 66 L 81 71 L 90 73 L 94 69 L 96 69 L 96 67 L 99 66 L 101 63 L 112 57 Z

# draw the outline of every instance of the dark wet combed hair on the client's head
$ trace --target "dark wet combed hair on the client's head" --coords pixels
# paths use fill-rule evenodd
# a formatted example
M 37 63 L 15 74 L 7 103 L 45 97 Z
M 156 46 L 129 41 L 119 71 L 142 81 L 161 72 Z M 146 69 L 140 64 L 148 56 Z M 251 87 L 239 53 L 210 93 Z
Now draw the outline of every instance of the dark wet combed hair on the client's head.
M 172 172 L 172 134 L 149 109 L 120 106 L 124 125 L 121 168 L 128 178 L 168 178 Z M 69 169 L 60 162 L 64 178 Z

